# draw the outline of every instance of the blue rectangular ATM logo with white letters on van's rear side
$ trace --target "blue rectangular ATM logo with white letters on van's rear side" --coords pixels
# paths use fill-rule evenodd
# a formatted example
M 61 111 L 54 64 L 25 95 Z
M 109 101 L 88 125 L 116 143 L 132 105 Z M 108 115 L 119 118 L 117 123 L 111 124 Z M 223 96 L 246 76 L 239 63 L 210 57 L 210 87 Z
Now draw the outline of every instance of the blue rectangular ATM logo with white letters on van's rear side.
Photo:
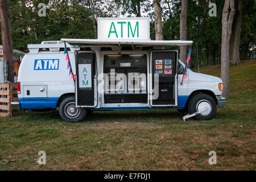
M 34 70 L 57 70 L 59 59 L 35 59 Z

